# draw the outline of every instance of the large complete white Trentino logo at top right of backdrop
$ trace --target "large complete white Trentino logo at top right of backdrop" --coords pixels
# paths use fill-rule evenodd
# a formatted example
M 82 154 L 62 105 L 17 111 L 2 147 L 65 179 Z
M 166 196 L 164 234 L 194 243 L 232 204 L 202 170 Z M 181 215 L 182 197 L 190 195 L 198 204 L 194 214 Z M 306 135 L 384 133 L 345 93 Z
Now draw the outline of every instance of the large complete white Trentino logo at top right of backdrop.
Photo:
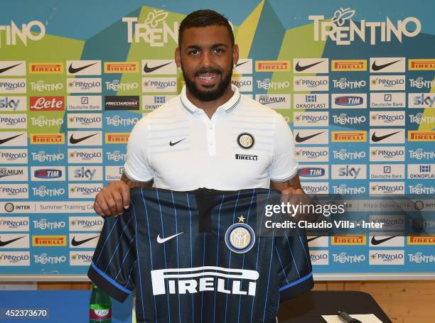
M 399 43 L 402 43 L 403 35 L 411 38 L 417 36 L 421 31 L 421 23 L 415 17 L 398 20 L 395 25 L 390 21 L 390 18 L 386 18 L 386 21 L 359 19 L 357 24 L 351 19 L 355 13 L 356 11 L 353 9 L 340 8 L 334 12 L 331 21 L 323 21 L 325 19 L 323 15 L 308 16 L 308 20 L 314 23 L 314 40 L 326 41 L 327 38 L 330 38 L 336 45 L 350 45 L 355 40 L 355 35 L 358 35 L 363 43 L 366 39 L 370 39 L 370 45 L 375 45 L 377 39 L 389 43 L 394 35 Z M 349 21 L 348 24 L 346 21 Z M 371 26 L 378 28 L 368 28 Z M 369 32 L 366 34 L 366 31 Z

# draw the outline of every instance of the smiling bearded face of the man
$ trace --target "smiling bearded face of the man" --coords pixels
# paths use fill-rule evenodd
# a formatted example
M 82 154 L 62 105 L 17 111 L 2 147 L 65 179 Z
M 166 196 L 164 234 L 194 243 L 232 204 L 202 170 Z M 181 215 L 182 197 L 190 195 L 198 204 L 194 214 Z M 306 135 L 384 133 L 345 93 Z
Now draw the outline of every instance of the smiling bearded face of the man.
M 188 28 L 176 50 L 177 65 L 190 93 L 200 101 L 213 101 L 230 88 L 232 64 L 237 62 L 237 45 L 231 45 L 224 26 Z

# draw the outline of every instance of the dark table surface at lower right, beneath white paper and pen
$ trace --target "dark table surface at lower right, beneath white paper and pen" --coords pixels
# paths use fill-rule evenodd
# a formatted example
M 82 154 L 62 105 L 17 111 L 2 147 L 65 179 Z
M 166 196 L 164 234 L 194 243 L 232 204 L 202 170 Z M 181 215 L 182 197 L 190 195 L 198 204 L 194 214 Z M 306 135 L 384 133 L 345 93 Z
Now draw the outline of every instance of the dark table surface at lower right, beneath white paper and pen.
M 375 314 L 382 322 L 392 322 L 367 292 L 311 291 L 279 307 L 279 323 L 325 323 L 321 315 L 337 311 L 348 314 Z

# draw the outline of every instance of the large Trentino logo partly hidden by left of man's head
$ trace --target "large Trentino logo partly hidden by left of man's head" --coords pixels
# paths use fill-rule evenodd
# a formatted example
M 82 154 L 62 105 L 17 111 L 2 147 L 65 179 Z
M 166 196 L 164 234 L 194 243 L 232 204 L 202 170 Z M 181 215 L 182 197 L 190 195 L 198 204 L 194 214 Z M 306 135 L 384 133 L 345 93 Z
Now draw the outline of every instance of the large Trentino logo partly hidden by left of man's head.
M 139 43 L 143 40 L 151 47 L 161 47 L 172 39 L 173 43 L 177 44 L 178 22 L 174 21 L 172 26 L 169 26 L 166 23 L 168 14 L 163 10 L 150 11 L 144 23 L 137 23 L 137 17 L 122 17 L 122 22 L 127 23 L 127 42 Z

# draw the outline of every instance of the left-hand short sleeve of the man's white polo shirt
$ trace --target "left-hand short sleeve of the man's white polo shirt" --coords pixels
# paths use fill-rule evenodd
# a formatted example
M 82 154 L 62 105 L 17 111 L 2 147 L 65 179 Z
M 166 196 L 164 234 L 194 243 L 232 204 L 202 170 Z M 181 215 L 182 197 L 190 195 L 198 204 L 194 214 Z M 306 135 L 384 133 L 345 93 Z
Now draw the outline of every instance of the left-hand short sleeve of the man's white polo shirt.
M 124 174 L 136 182 L 149 182 L 154 171 L 149 165 L 148 121 L 142 118 L 133 128 L 127 143 Z

